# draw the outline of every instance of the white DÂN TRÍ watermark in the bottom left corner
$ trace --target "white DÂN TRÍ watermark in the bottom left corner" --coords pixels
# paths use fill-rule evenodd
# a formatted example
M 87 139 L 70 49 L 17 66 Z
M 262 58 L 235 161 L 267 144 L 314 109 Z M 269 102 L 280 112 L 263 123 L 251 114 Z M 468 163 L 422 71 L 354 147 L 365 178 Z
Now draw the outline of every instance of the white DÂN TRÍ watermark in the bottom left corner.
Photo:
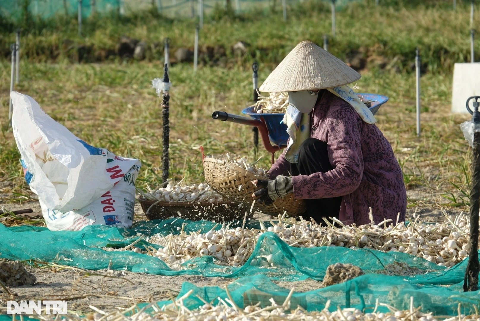
M 42 314 L 42 309 L 45 314 L 67 314 L 67 301 L 7 301 L 7 314 Z

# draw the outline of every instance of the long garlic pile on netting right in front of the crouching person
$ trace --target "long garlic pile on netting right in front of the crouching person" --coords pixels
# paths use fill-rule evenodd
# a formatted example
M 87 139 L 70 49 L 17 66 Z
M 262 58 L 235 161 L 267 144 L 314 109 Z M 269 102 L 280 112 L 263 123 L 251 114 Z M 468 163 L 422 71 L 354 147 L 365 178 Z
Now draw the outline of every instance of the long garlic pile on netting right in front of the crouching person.
M 276 233 L 291 247 L 349 247 L 371 248 L 383 252 L 399 251 L 421 257 L 439 266 L 451 267 L 468 257 L 468 216 L 461 213 L 452 218 L 445 214 L 446 222 L 429 224 L 417 222 L 418 217 L 405 226 L 397 222 L 387 227 L 391 220 L 375 225 L 369 223 L 359 227 L 347 226 L 333 219 L 326 221 L 326 226 L 316 222 L 292 221 L 286 215 L 278 215 L 278 222 L 268 228 L 260 221 L 261 229 L 231 229 L 223 224 L 219 230 L 205 234 L 183 232 L 180 235 L 169 234 L 166 237 L 154 235 L 149 242 L 162 246 L 149 255 L 163 260 L 172 269 L 195 257 L 211 255 L 218 259 L 218 264 L 229 266 L 243 265 L 252 254 L 258 237 L 265 232 Z M 140 250 L 140 249 L 139 249 Z M 274 267 L 271 255 L 252 259 L 253 266 Z M 186 267 L 182 267 L 186 269 Z

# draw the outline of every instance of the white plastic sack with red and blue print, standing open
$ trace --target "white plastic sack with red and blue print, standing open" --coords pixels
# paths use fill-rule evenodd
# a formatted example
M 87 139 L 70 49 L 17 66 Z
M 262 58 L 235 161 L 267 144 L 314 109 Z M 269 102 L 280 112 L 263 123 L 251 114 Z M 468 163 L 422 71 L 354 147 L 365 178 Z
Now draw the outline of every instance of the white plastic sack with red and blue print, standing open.
M 48 228 L 130 227 L 140 161 L 88 145 L 29 96 L 12 92 L 11 97 L 25 180 L 38 195 Z

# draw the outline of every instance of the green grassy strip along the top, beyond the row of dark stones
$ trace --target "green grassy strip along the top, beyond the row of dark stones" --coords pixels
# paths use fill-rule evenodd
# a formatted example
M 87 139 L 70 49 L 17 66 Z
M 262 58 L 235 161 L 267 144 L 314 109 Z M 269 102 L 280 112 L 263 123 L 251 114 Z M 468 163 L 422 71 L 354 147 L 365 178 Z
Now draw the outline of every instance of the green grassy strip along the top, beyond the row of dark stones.
M 322 45 L 324 35 L 331 34 L 329 4 L 307 0 L 292 3 L 285 23 L 281 1 L 276 2 L 276 12 L 235 14 L 216 7 L 205 15 L 204 28 L 200 30 L 201 51 L 207 47 L 223 47 L 225 59 L 219 65 L 228 68 L 253 60 L 274 66 L 300 41 L 309 39 Z M 352 2 L 337 12 L 336 38 L 330 37 L 329 50 L 340 59 L 358 65 L 359 69 L 378 65 L 411 72 L 415 49 L 419 47 L 424 71 L 450 73 L 454 62 L 470 61 L 467 1 L 457 1 L 456 11 L 452 10 L 451 1 L 422 1 L 426 4 L 421 5 L 407 3 L 416 1 L 403 1 L 407 3 L 405 7 L 398 4 L 375 7 L 373 2 Z M 477 4 L 477 12 L 479 8 Z M 126 59 L 118 55 L 116 48 L 121 35 L 145 41 L 146 60 L 158 61 L 163 59 L 165 37 L 170 39 L 171 58 L 175 58 L 178 48 L 193 49 L 197 23 L 197 17 L 171 19 L 154 10 L 131 16 L 112 13 L 85 19 L 82 37 L 79 37 L 73 15 L 59 15 L 46 21 L 26 16 L 19 25 L 4 19 L 0 23 L 0 56 L 8 59 L 14 30 L 21 26 L 22 57 L 30 62 L 121 62 Z M 238 41 L 248 43 L 241 56 L 231 49 Z M 478 41 L 475 48 L 479 52 Z M 204 63 L 217 64 L 214 58 Z

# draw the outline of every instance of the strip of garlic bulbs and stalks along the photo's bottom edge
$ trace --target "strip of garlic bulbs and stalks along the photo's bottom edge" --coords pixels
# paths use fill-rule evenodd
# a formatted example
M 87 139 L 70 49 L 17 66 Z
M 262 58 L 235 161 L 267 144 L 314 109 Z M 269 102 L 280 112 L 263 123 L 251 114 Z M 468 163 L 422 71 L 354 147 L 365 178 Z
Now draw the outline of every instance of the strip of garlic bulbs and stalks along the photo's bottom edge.
M 218 303 L 213 305 L 206 302 L 201 296 L 196 296 L 204 301 L 204 305 L 198 309 L 188 309 L 184 305 L 184 301 L 192 296 L 193 290 L 185 295 L 172 300 L 171 304 L 158 306 L 156 302 L 147 304 L 144 308 L 139 309 L 135 304 L 131 308 L 117 308 L 112 312 L 105 312 L 95 306 L 90 305 L 93 313 L 86 316 L 78 314 L 64 315 L 65 321 L 100 321 L 100 320 L 125 320 L 125 321 L 265 321 L 265 320 L 287 320 L 287 321 L 437 321 L 438 319 L 432 315 L 432 312 L 420 312 L 421 307 L 415 308 L 413 305 L 413 297 L 410 297 L 410 309 L 398 310 L 388 304 L 378 303 L 372 312 L 364 313 L 359 309 L 339 307 L 330 312 L 328 308 L 331 301 L 328 300 L 325 307 L 321 311 L 306 311 L 301 307 L 294 307 L 291 302 L 291 296 L 294 289 L 290 291 L 283 303 L 276 303 L 273 298 L 270 299 L 270 305 L 261 308 L 258 305 L 246 306 L 240 308 L 232 299 L 227 290 L 228 298 L 218 298 Z M 379 312 L 378 307 L 386 307 L 389 312 Z M 152 314 L 144 312 L 146 309 L 153 309 Z M 460 308 L 459 308 L 460 309 Z M 458 311 L 460 313 L 460 311 Z M 55 315 L 48 314 L 37 316 L 44 321 L 55 321 Z M 58 318 L 57 318 L 58 319 Z M 444 321 L 480 321 L 479 316 L 458 314 L 457 316 L 444 319 Z

